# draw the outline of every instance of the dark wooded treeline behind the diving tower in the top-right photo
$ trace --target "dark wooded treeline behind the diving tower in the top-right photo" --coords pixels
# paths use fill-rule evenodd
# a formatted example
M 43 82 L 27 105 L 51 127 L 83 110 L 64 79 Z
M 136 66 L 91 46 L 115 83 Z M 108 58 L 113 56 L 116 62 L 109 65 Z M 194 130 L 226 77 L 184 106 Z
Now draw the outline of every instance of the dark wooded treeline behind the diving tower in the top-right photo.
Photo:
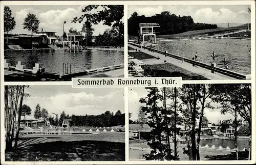
M 139 30 L 139 23 L 159 23 L 160 28 L 155 28 L 159 35 L 172 35 L 184 33 L 187 31 L 217 29 L 217 24 L 208 23 L 194 23 L 191 16 L 177 16 L 171 14 L 169 11 L 163 11 L 161 14 L 156 14 L 151 17 L 145 15 L 138 15 L 134 12 L 128 19 L 128 34 L 130 36 L 137 36 Z

